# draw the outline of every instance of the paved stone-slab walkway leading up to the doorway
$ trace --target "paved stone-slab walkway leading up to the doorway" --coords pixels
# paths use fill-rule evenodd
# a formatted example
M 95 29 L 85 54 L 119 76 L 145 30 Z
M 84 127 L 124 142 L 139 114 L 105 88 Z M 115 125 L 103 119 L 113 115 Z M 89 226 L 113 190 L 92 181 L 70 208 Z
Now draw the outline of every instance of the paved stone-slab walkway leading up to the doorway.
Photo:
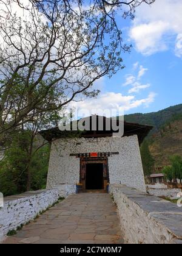
M 80 193 L 50 208 L 4 243 L 121 244 L 123 239 L 110 195 Z

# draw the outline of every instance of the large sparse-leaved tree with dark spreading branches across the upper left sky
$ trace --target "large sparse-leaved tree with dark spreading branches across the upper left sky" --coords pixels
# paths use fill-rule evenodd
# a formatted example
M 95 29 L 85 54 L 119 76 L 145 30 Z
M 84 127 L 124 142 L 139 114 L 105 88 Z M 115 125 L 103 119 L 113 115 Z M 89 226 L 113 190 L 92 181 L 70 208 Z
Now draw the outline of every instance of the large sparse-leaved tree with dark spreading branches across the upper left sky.
M 31 121 L 34 110 L 60 110 L 79 95 L 98 94 L 93 83 L 123 69 L 121 53 L 130 51 L 117 11 L 133 18 L 138 5 L 154 1 L 0 1 L 1 143 L 4 133 Z

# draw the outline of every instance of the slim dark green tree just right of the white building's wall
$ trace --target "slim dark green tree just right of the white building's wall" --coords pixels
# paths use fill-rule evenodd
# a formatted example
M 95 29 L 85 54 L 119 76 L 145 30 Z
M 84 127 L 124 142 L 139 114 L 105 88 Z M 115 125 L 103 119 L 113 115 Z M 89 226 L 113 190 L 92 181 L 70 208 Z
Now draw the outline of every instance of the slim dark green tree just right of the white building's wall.
M 150 174 L 152 174 L 152 168 L 154 167 L 155 160 L 150 154 L 149 142 L 147 140 L 144 140 L 141 144 L 140 151 L 141 159 L 143 162 L 144 175 L 149 176 Z

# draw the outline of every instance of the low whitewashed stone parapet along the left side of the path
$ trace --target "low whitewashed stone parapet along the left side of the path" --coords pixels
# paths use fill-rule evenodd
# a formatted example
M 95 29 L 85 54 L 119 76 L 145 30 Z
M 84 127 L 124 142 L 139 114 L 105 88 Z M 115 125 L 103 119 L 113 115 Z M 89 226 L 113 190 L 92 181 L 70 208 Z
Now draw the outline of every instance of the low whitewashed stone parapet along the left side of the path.
M 0 241 L 10 230 L 35 218 L 40 212 L 58 201 L 58 190 L 38 190 L 4 198 L 0 208 Z

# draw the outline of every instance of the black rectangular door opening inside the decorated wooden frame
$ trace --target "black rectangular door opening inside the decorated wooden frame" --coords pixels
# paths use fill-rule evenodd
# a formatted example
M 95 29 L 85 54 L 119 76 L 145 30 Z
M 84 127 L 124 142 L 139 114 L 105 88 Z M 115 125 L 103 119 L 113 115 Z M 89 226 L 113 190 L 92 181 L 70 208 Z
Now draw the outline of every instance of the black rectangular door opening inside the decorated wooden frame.
M 103 190 L 103 163 L 89 163 L 86 165 L 86 190 Z

